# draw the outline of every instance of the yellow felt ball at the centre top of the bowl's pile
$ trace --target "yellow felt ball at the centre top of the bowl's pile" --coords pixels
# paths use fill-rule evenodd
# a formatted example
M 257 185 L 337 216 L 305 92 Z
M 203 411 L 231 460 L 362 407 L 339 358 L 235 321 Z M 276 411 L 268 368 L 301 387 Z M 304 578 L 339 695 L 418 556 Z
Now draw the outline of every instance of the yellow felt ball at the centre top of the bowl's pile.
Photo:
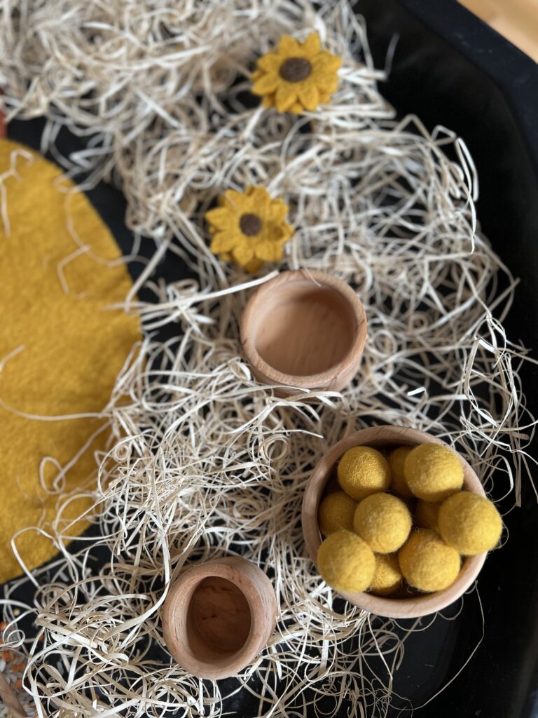
M 372 551 L 391 554 L 405 543 L 411 531 L 411 514 L 397 496 L 386 493 L 364 498 L 355 509 L 353 528 Z

